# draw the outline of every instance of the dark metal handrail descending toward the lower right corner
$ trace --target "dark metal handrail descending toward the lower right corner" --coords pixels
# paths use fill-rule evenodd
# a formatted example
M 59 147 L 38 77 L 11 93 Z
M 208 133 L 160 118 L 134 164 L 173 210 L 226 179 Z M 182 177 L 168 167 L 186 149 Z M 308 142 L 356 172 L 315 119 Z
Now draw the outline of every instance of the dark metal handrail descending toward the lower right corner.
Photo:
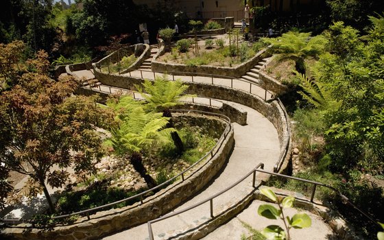
M 341 197 L 341 200 L 343 202 L 346 202 L 346 203 L 350 204 L 350 206 L 352 206 L 357 211 L 359 211 L 361 214 L 363 214 L 365 217 L 370 219 L 370 221 L 374 222 L 375 224 L 378 224 L 377 221 L 372 218 L 372 216 L 370 216 L 368 213 L 364 213 L 360 208 L 355 206 L 355 204 L 350 202 L 350 200 L 348 199 L 348 197 L 346 197 L 346 195 L 342 194 L 338 189 L 335 189 L 334 187 L 329 186 L 328 184 L 324 184 L 322 182 L 315 182 L 315 181 L 312 181 L 312 180 L 307 180 L 307 179 L 302 179 L 302 178 L 296 178 L 296 177 L 292 177 L 292 176 L 287 176 L 287 175 L 280 174 L 280 173 L 274 173 L 272 171 L 266 171 L 266 170 L 261 170 L 261 169 L 255 169 L 255 170 L 259 171 L 261 173 L 267 173 L 269 175 L 280 176 L 280 177 L 283 177 L 283 178 L 289 178 L 289 179 L 293 179 L 293 180 L 298 180 L 300 182 L 307 182 L 307 183 L 313 184 L 313 188 L 312 188 L 312 192 L 311 192 L 311 200 L 310 200 L 312 203 L 315 203 L 315 202 L 313 202 L 313 198 L 315 197 L 315 191 L 316 191 L 316 187 L 317 186 L 322 186 L 322 187 L 326 187 L 328 189 L 331 189 L 332 191 L 337 193 L 337 195 L 339 195 L 339 197 Z

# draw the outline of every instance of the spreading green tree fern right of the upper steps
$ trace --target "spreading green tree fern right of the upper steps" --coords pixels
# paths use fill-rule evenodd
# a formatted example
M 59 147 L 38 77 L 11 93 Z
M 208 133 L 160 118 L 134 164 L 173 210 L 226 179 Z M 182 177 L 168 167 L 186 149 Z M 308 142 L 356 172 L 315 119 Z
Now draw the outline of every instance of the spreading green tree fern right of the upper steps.
M 322 35 L 314 36 L 313 38 L 310 36 L 310 32 L 287 32 L 278 38 L 264 38 L 263 41 L 272 44 L 268 51 L 277 54 L 275 56 L 277 60 L 294 60 L 296 71 L 304 74 L 304 59 L 308 56 L 317 56 L 322 53 L 328 42 Z

